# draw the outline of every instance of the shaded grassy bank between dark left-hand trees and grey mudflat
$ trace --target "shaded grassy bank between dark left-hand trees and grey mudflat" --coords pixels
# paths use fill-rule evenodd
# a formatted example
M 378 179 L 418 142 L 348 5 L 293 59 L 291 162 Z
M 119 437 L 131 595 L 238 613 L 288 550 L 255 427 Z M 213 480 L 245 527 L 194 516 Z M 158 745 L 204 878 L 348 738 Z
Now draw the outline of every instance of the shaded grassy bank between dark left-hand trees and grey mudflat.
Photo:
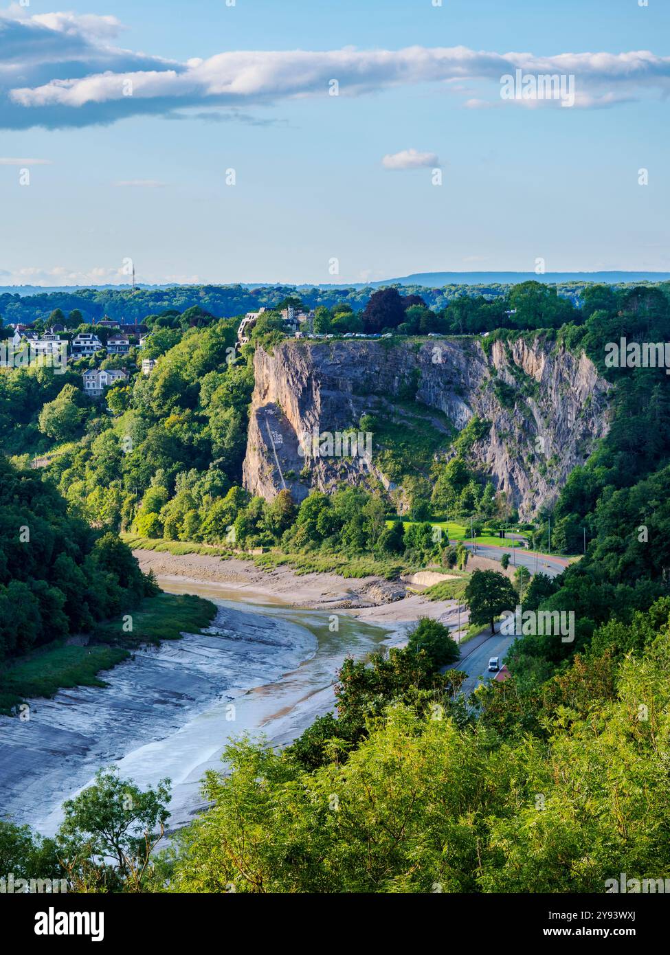
M 198 633 L 208 626 L 216 606 L 202 597 L 165 594 L 145 598 L 139 607 L 98 625 L 87 647 L 56 641 L 39 647 L 0 671 L 0 712 L 10 714 L 29 696 L 52 697 L 73 687 L 106 687 L 99 677 L 126 660 L 128 647 L 178 640 L 182 631 Z M 132 631 L 126 631 L 132 619 Z

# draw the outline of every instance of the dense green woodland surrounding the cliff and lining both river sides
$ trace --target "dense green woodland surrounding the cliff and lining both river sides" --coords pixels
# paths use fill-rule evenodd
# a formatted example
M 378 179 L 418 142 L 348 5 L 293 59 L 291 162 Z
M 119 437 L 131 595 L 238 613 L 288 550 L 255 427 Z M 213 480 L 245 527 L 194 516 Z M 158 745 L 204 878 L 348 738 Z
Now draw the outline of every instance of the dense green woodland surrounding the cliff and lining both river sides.
M 520 638 L 508 658 L 512 678 L 480 688 L 465 708 L 458 674 L 440 673 L 453 649 L 447 634 L 421 622 L 405 650 L 367 667 L 345 664 L 337 719 L 316 721 L 285 753 L 249 740 L 233 746 L 232 775 L 206 781 L 214 808 L 144 870 L 142 886 L 142 833 L 166 817 L 166 788 L 144 795 L 127 835 L 136 841 L 116 864 L 81 864 L 76 846 L 99 849 L 104 839 L 81 802 L 59 847 L 0 825 L 0 857 L 22 852 L 22 871 L 62 872 L 67 857 L 79 859 L 67 870 L 79 887 L 162 890 L 169 876 L 177 891 L 233 884 L 256 892 L 586 892 L 623 871 L 667 872 L 670 381 L 663 369 L 607 368 L 604 346 L 621 336 L 664 341 L 668 286 L 589 286 L 576 305 L 536 283 L 442 308 L 407 288 L 379 290 L 364 308 L 348 298 L 303 302 L 317 306 L 320 333 L 486 332 L 486 348 L 496 336 L 541 329 L 585 350 L 614 384 L 609 434 L 535 528 L 543 546 L 551 518 L 552 546 L 568 554 L 581 550 L 586 529 L 582 560 L 553 582 L 533 578 L 525 596 L 528 608 L 573 610 L 574 643 Z M 477 420 L 455 439 L 456 455 L 429 461 L 423 474 L 402 471 L 399 447 L 385 449 L 408 482 L 409 526 L 375 489 L 314 492 L 299 506 L 288 493 L 250 499 L 241 468 L 252 354 L 282 336 L 280 323 L 270 311 L 239 350 L 237 320 L 183 305 L 133 316 L 151 331 L 142 355 L 161 360 L 102 398 L 82 393 L 85 362 L 65 375 L 0 371 L 0 440 L 10 456 L 0 470 L 6 659 L 151 592 L 119 532 L 353 562 L 372 556 L 387 568 L 462 566 L 463 553 L 435 539 L 431 520 L 445 510 L 491 527 L 501 520 L 504 502 L 468 459 L 486 429 Z M 8 321 L 4 300 L 0 309 Z M 85 324 L 81 313 L 63 317 L 73 329 Z M 140 353 L 101 354 L 96 367 L 101 361 L 136 371 Z M 22 527 L 30 544 L 17 536 Z M 472 608 L 476 574 L 470 584 Z M 114 805 L 120 781 L 102 775 L 97 785 Z M 106 854 L 114 857 L 96 853 Z

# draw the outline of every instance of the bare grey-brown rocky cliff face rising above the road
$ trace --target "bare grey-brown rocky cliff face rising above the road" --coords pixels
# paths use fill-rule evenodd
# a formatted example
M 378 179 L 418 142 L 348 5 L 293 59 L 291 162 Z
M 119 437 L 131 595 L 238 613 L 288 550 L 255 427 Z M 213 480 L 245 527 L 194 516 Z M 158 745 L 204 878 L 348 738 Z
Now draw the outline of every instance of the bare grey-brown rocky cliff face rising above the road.
M 271 354 L 256 350 L 254 368 L 244 483 L 266 499 L 287 487 L 302 500 L 342 481 L 380 482 L 393 493 L 374 431 L 372 454 L 364 435 L 352 445 L 349 433 L 360 432 L 361 415 L 384 409 L 399 429 L 412 427 L 405 415 L 414 403 L 421 414 L 442 413 L 432 423 L 443 430 L 436 452 L 443 458 L 474 415 L 490 425 L 467 456 L 527 519 L 556 498 L 609 427 L 610 386 L 586 355 L 544 336 L 495 341 L 488 350 L 474 337 L 290 340 Z

